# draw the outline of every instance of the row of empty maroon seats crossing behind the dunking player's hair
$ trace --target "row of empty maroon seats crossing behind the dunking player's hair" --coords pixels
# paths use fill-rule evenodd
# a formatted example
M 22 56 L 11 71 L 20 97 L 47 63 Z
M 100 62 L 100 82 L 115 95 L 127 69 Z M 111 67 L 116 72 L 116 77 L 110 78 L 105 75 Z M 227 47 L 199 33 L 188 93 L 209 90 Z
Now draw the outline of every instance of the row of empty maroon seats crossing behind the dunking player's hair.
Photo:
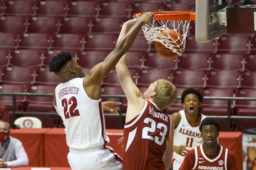
M 48 66 L 57 53 L 65 49 L 0 49 L 0 66 Z M 84 68 L 92 68 L 106 58 L 111 50 L 67 50 L 73 59 Z M 182 56 L 167 59 L 157 52 L 128 51 L 128 68 L 158 70 L 195 70 L 195 71 L 240 71 L 256 72 L 256 54 L 230 53 L 193 53 L 184 52 Z

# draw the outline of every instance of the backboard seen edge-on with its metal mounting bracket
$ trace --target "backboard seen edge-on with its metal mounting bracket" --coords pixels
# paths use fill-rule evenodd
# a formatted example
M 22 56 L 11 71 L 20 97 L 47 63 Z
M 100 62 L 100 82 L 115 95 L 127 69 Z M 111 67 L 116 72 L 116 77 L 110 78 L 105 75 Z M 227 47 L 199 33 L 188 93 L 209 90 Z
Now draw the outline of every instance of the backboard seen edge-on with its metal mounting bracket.
M 195 0 L 195 40 L 208 42 L 227 33 L 226 7 L 230 0 Z

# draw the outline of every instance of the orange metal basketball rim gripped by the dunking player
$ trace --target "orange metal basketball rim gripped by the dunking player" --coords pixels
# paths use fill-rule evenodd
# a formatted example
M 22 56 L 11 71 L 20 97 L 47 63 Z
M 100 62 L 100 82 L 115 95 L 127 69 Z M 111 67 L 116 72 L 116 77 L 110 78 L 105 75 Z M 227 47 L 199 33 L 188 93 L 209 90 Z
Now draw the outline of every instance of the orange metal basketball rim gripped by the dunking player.
M 144 14 L 145 12 L 133 14 L 135 17 L 137 14 Z M 195 20 L 195 12 L 187 11 L 162 11 L 153 12 L 158 20 Z

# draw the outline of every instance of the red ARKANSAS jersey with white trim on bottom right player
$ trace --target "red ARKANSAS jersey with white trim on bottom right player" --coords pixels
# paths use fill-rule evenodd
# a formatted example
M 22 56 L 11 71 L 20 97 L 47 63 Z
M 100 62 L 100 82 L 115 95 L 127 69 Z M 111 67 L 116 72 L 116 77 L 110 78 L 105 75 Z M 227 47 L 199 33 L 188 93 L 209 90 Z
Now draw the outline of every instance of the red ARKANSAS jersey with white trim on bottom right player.
M 215 155 L 207 155 L 202 146 L 195 147 L 185 155 L 179 170 L 237 170 L 232 151 L 219 145 Z

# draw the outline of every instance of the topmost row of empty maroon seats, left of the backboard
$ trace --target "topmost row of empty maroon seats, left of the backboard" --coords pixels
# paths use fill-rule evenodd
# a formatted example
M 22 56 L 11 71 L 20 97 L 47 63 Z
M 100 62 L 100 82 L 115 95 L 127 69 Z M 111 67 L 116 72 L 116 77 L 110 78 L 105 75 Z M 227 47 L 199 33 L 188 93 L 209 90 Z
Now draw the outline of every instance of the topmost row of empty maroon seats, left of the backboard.
M 25 16 L 111 16 L 130 18 L 133 13 L 138 12 L 194 10 L 193 4 L 176 3 L 174 1 L 149 3 L 149 1 L 3 0 L 0 5 L 0 15 Z

